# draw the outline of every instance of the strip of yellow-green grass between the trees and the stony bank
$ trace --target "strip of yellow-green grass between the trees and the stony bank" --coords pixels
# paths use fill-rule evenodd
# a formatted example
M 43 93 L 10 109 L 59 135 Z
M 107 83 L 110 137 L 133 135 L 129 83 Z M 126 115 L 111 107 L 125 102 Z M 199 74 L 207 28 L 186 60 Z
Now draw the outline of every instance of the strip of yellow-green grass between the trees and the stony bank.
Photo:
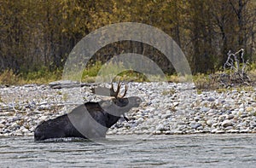
M 105 65 L 103 65 L 105 66 Z M 125 81 L 134 81 L 134 82 L 148 82 L 149 79 L 142 73 L 135 72 L 132 70 L 125 70 L 123 72 L 119 72 L 119 70 L 123 68 L 122 64 L 116 64 L 113 62 L 109 62 L 107 67 L 103 67 L 102 62 L 97 61 L 94 64 L 91 64 L 89 67 L 84 68 L 84 72 L 82 74 L 81 81 L 85 83 L 92 83 L 96 81 L 96 76 L 100 71 L 104 78 L 112 78 L 112 74 L 114 74 L 114 78 L 117 76 L 120 80 Z M 105 68 L 105 69 L 104 69 Z M 106 74 L 105 74 L 105 73 Z M 219 73 L 219 72 L 218 72 Z M 218 74 L 216 73 L 216 74 Z M 110 75 L 109 75 L 110 74 Z M 247 72 L 248 76 L 252 80 L 252 84 L 256 84 L 256 63 L 253 63 L 249 67 L 249 71 Z M 218 90 L 224 91 L 227 88 L 219 87 L 217 78 L 209 77 L 209 75 L 198 73 L 193 77 L 185 76 L 178 77 L 177 75 L 166 75 L 166 80 L 169 82 L 185 82 L 189 81 L 193 78 L 193 81 L 198 90 Z M 6 70 L 0 73 L 0 84 L 9 84 L 9 85 L 19 85 L 19 84 L 48 84 L 49 82 L 55 80 L 61 80 L 62 78 L 62 70 L 55 70 L 55 72 L 50 72 L 46 67 L 42 67 L 37 72 L 26 72 L 15 74 L 12 70 Z M 160 77 L 155 76 L 155 81 L 158 81 Z M 165 94 L 165 93 L 164 93 Z

